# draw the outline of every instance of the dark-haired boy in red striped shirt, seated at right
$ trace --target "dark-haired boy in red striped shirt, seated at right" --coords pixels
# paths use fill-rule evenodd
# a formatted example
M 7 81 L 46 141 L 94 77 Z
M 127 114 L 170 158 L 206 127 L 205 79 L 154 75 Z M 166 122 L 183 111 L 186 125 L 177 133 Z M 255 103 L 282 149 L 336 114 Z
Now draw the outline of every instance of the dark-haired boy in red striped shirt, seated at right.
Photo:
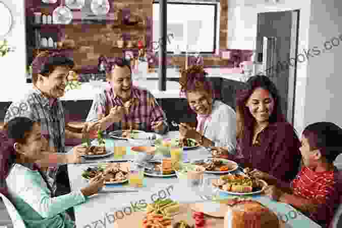
M 276 178 L 253 170 L 256 178 L 273 185 L 265 193 L 273 200 L 291 204 L 322 227 L 330 223 L 339 203 L 340 176 L 333 165 L 342 151 L 342 129 L 329 122 L 305 128 L 300 152 L 304 166 L 288 188 L 280 187 Z

